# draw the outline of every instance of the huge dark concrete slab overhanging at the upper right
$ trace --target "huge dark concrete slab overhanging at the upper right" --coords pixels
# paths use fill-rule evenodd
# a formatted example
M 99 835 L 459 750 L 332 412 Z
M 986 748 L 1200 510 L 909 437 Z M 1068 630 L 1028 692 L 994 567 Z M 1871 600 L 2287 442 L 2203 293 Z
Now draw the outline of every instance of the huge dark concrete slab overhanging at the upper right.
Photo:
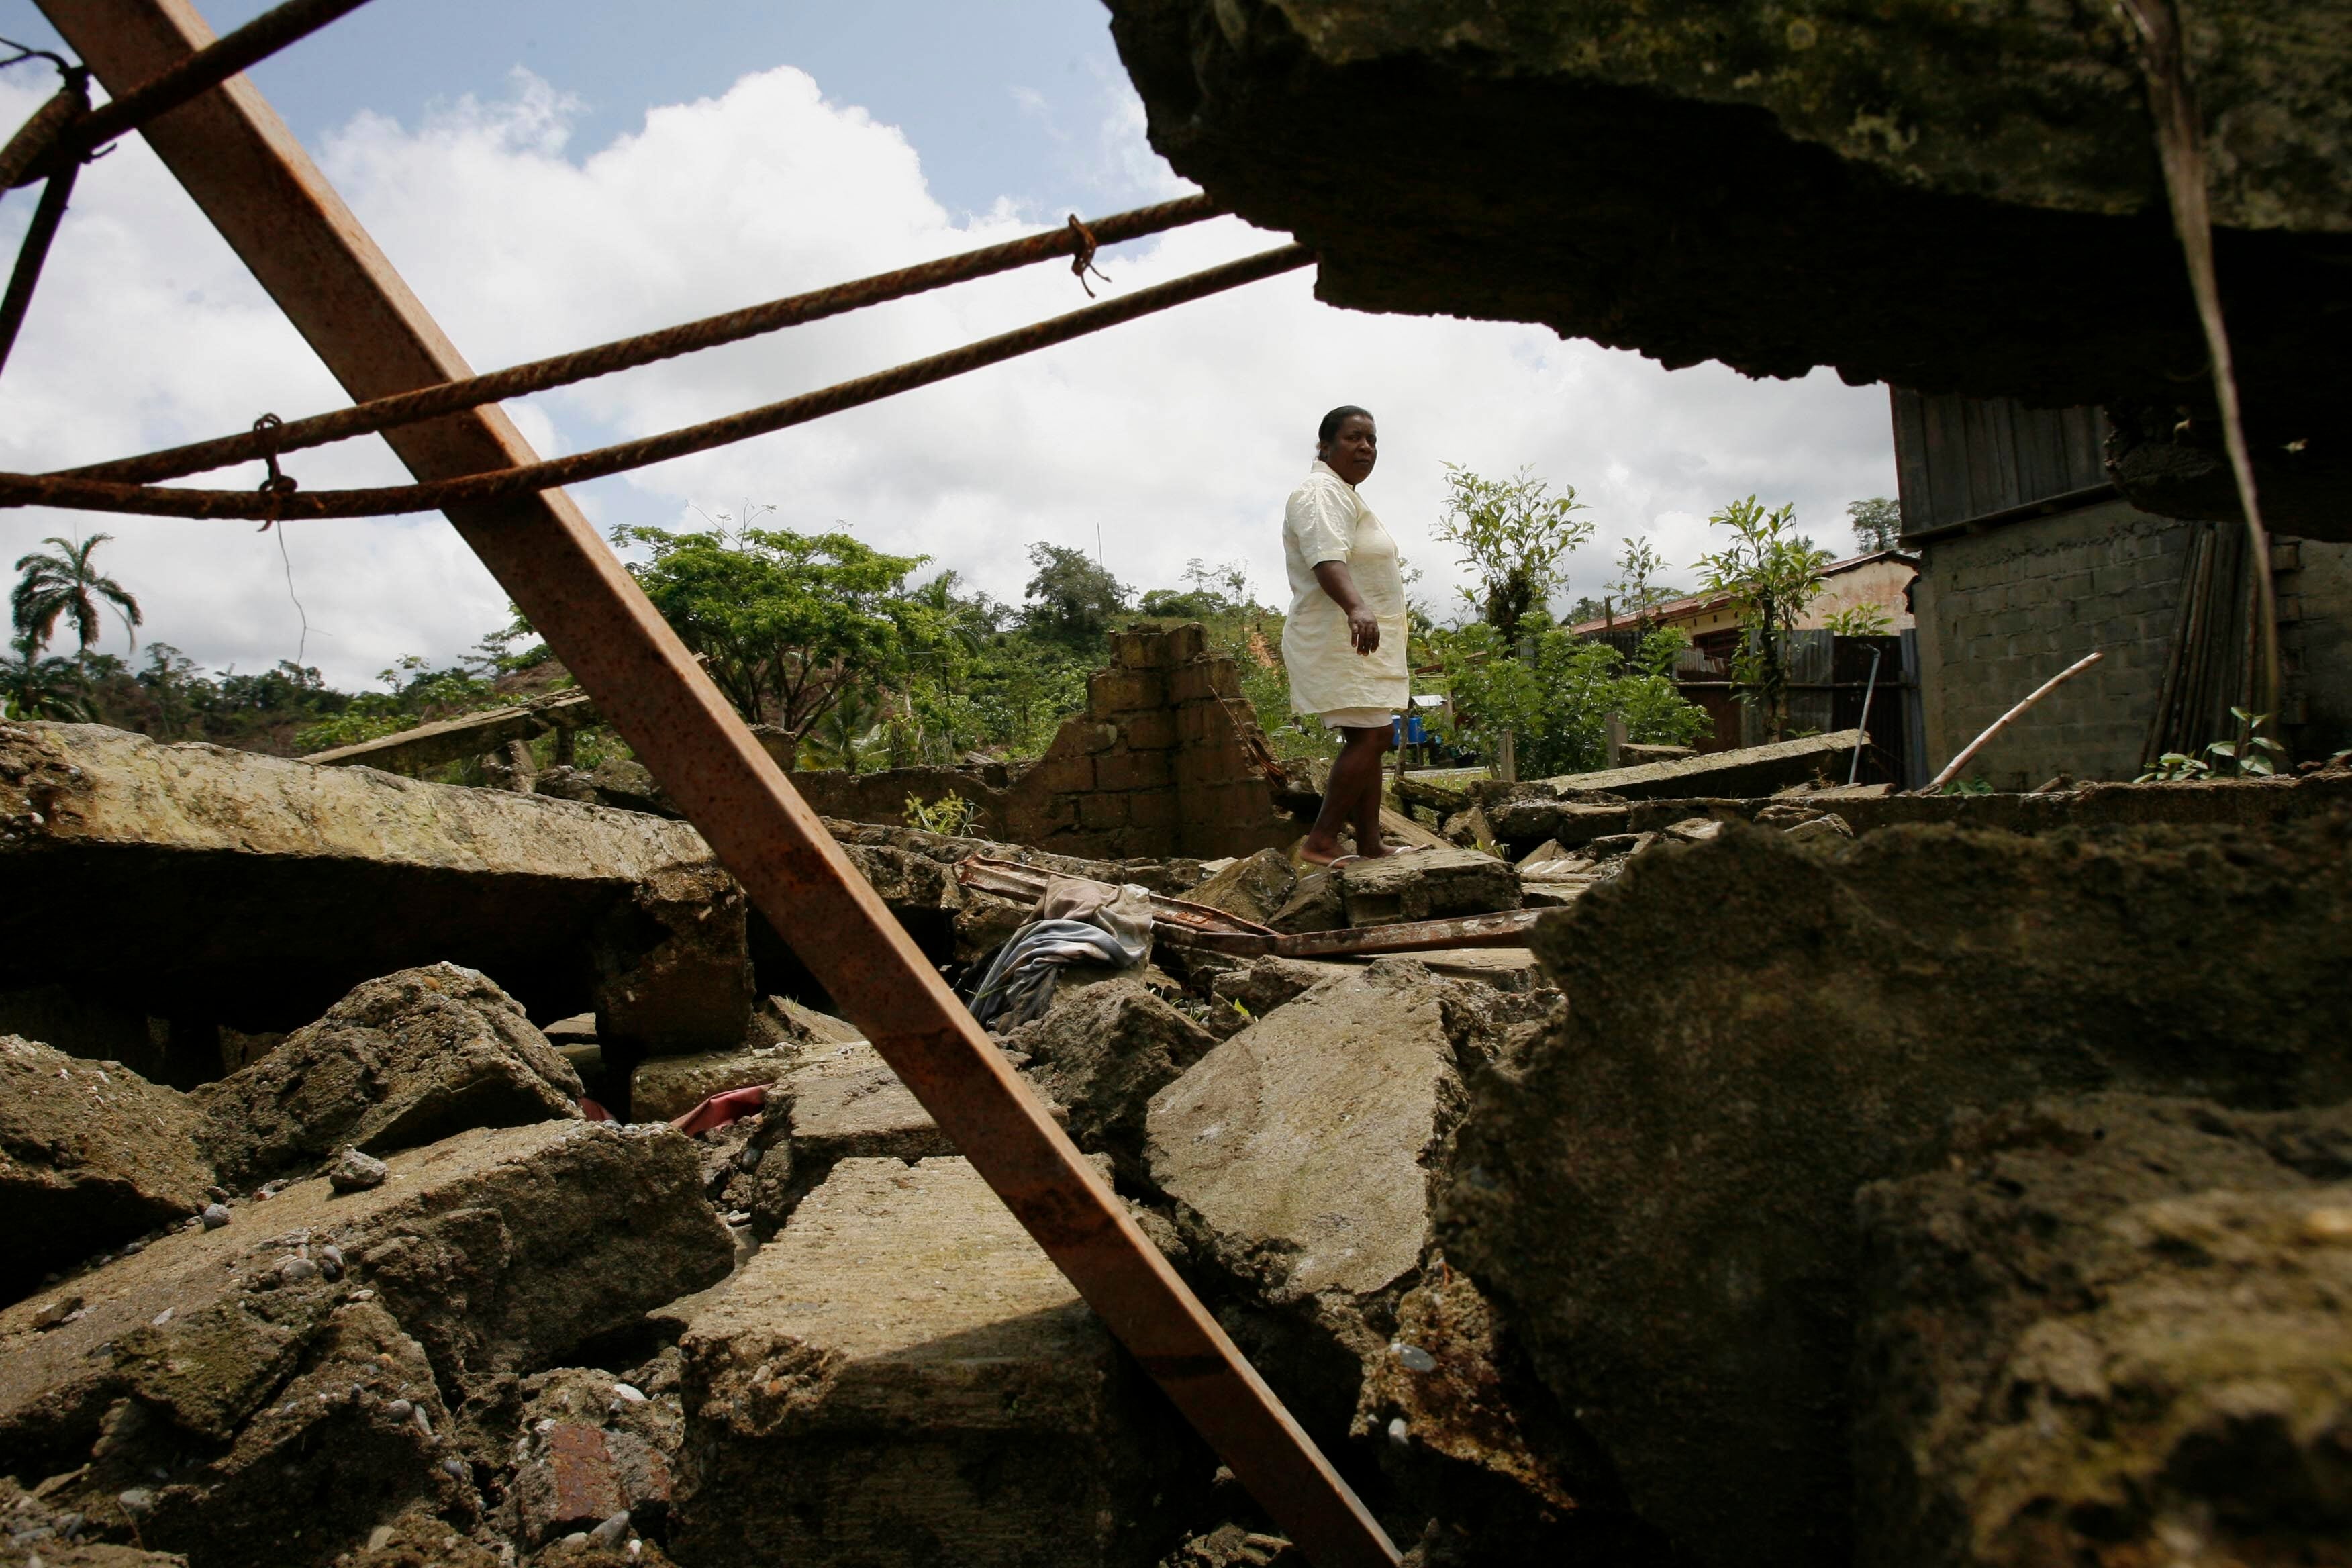
M 1152 146 L 1312 244 L 1336 306 L 1545 322 L 1750 376 L 1828 364 L 2039 407 L 2209 400 L 2112 7 L 1110 12 Z M 2352 348 L 2352 12 L 2206 0 L 2185 47 L 2249 440 L 2272 468 L 2336 463 L 2326 440 L 2279 449 L 2333 428 Z

